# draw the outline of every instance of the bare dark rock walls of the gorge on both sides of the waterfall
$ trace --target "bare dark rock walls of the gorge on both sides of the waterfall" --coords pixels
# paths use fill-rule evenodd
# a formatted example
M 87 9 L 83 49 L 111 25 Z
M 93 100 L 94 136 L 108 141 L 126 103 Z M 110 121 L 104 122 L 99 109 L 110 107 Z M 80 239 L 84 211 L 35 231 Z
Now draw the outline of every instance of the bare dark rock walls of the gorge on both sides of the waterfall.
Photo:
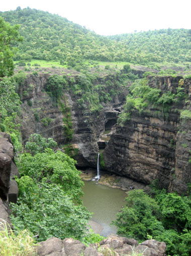
M 68 141 L 63 134 L 61 109 L 53 106 L 44 90 L 48 77 L 49 74 L 40 74 L 38 77 L 29 75 L 20 91 L 23 101 L 23 141 L 26 142 L 31 133 L 40 133 L 44 137 L 52 137 L 60 145 L 67 144 Z M 167 91 L 175 93 L 181 78 L 181 76 L 150 77 L 149 83 L 151 87 L 160 88 L 163 93 Z M 24 96 L 23 91 L 27 88 L 31 89 L 28 90 L 28 95 Z M 182 122 L 179 118 L 179 110 L 189 109 L 191 93 L 189 79 L 184 81 L 184 92 L 188 95 L 187 102 L 172 106 L 166 118 L 154 109 L 150 109 L 144 115 L 134 111 L 131 120 L 123 127 L 119 127 L 116 122 L 123 109 L 127 89 L 119 93 L 110 103 L 103 104 L 104 108 L 99 115 L 92 114 L 87 109 L 80 109 L 73 92 L 64 91 L 67 105 L 71 110 L 74 130 L 70 143 L 78 148 L 75 156 L 78 167 L 97 166 L 99 146 L 104 148 L 103 141 L 99 142 L 100 135 L 112 128 L 111 139 L 103 151 L 106 170 L 145 184 L 158 179 L 169 191 L 186 192 L 186 184 L 191 183 L 188 164 L 191 147 L 190 121 Z M 29 100 L 33 103 L 31 107 L 28 104 Z M 50 118 L 51 123 L 44 126 L 43 118 Z

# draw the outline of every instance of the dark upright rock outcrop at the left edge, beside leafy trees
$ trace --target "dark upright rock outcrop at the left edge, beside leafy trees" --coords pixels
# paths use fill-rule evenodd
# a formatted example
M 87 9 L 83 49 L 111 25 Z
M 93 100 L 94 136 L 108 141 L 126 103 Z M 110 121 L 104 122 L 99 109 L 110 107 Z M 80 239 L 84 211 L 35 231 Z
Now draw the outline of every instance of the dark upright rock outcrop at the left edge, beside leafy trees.
M 14 163 L 14 147 L 9 134 L 0 132 L 0 219 L 11 225 L 8 200 L 17 202 L 19 171 Z

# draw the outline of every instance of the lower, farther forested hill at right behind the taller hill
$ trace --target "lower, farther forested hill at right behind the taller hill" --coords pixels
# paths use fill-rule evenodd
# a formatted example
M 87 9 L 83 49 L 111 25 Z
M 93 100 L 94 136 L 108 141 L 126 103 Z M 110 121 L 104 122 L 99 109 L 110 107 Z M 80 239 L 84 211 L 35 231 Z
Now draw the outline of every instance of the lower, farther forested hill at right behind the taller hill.
M 130 53 L 136 53 L 133 60 L 140 63 L 191 61 L 191 29 L 149 30 L 110 38 L 128 45 Z

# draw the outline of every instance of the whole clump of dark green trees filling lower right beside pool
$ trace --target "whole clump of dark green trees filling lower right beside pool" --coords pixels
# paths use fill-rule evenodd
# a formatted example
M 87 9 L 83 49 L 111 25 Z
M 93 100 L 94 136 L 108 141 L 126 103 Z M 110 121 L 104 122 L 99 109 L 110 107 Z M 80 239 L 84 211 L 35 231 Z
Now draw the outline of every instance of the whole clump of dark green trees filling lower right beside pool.
M 128 193 L 126 206 L 113 222 L 119 228 L 118 234 L 140 241 L 147 238 L 164 241 L 168 254 L 190 255 L 190 198 L 166 194 L 165 189 L 154 186 L 152 194 L 154 199 L 142 190 Z

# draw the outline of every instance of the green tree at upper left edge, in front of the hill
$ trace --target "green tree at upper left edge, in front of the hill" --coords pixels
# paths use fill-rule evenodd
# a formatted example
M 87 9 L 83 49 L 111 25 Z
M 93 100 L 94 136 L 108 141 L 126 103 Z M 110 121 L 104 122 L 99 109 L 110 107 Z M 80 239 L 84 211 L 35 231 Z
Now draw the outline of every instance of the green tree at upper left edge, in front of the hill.
M 0 77 L 13 75 L 13 57 L 19 41 L 19 25 L 11 26 L 0 17 Z

